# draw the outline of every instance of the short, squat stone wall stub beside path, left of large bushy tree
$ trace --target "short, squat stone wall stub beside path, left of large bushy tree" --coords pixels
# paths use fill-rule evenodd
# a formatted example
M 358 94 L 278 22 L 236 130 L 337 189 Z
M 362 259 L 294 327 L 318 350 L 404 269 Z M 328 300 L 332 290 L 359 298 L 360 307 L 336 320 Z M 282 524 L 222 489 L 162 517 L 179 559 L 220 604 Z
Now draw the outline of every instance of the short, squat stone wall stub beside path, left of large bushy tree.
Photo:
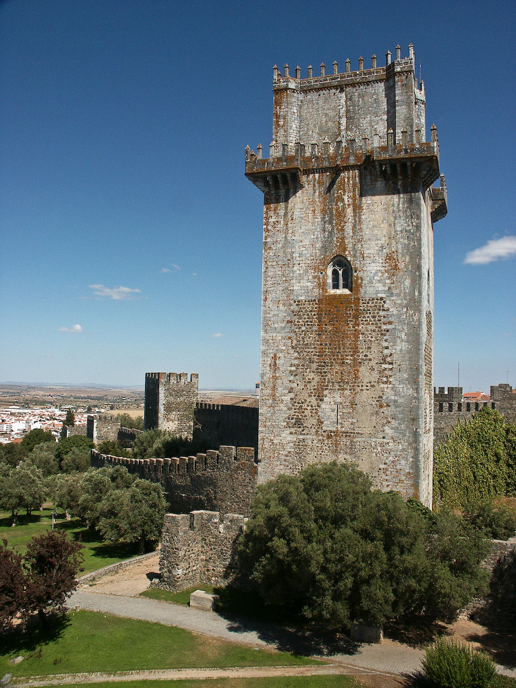
M 241 514 L 195 510 L 166 514 L 156 587 L 178 592 L 199 583 L 227 585 L 233 579 L 235 539 L 247 519 Z

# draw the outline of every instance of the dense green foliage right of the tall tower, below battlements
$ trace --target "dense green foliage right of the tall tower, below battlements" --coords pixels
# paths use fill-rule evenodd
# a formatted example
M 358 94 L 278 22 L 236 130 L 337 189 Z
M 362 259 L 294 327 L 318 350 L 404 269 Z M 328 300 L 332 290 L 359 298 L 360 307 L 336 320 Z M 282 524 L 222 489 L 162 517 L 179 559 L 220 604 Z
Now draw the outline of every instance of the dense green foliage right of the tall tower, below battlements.
M 453 427 L 434 451 L 433 494 L 451 508 L 516 495 L 516 425 L 484 407 Z

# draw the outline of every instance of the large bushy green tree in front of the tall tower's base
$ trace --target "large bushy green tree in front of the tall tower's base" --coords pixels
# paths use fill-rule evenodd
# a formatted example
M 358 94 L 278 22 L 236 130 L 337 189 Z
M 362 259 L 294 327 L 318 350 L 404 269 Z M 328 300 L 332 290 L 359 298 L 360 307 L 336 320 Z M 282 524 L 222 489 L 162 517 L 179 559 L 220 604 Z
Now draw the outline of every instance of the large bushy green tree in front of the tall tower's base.
M 460 530 L 459 543 L 459 523 L 372 491 L 351 466 L 309 466 L 259 486 L 238 558 L 266 601 L 332 627 L 447 617 L 482 587 L 482 537 Z M 459 554 L 451 556 L 447 538 Z

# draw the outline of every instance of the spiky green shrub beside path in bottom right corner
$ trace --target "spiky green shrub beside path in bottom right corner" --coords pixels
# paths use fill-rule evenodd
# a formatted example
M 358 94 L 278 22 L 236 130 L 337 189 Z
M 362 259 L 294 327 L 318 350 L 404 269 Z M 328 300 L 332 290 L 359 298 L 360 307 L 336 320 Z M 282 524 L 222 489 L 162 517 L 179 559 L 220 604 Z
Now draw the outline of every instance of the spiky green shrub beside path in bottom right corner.
M 496 673 L 486 654 L 445 638 L 427 647 L 422 665 L 432 688 L 488 688 Z

